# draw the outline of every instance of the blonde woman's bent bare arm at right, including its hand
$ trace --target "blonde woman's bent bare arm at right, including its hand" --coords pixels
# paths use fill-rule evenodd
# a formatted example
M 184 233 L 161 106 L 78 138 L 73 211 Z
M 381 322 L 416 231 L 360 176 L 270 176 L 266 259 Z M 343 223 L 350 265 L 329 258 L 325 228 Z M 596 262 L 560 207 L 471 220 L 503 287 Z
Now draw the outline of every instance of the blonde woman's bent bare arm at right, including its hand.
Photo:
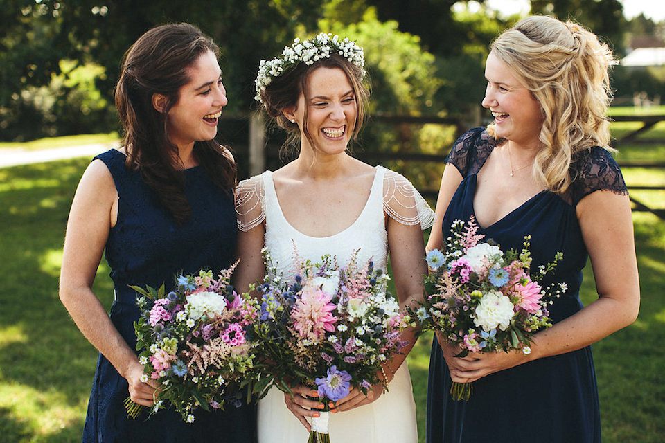
M 473 381 L 529 360 L 572 352 L 630 325 L 639 310 L 639 279 L 627 195 L 596 191 L 580 200 L 577 216 L 591 258 L 598 299 L 535 334 L 529 356 L 521 352 L 446 359 L 453 381 Z M 445 348 L 444 348 L 445 350 Z

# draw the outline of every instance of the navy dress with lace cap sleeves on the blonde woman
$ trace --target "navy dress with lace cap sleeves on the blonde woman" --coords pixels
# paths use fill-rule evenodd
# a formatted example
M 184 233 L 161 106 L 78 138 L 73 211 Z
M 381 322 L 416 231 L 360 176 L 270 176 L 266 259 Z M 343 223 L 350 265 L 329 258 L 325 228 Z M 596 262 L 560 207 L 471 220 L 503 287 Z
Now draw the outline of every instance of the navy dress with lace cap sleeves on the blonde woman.
M 443 219 L 447 237 L 455 219 L 474 214 L 477 172 L 495 147 L 484 128 L 472 129 L 454 145 L 448 163 L 464 177 Z M 580 152 L 571 165 L 573 183 L 564 195 L 544 190 L 479 233 L 505 251 L 521 248 L 531 235 L 531 269 L 563 253 L 554 275 L 542 283 L 565 282 L 567 293 L 550 314 L 556 323 L 582 309 L 578 293 L 587 249 L 575 213 L 585 195 L 596 190 L 626 194 L 621 171 L 600 147 Z M 427 388 L 428 443 L 587 443 L 601 441 L 596 376 L 590 347 L 538 359 L 490 374 L 473 383 L 469 401 L 450 396 L 450 373 L 436 340 L 432 345 Z

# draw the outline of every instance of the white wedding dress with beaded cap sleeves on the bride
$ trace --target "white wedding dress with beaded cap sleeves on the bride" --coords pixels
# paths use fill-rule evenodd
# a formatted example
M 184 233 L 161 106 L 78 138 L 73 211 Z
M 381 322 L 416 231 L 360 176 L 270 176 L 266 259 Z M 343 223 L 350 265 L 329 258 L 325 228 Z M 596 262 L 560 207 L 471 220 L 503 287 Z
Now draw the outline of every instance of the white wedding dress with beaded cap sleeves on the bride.
M 236 192 L 238 228 L 250 230 L 265 221 L 265 247 L 277 272 L 292 278 L 294 246 L 301 259 L 317 262 L 330 254 L 341 265 L 359 250 L 357 262 L 370 258 L 375 269 L 387 268 L 386 216 L 402 224 L 429 228 L 434 213 L 413 185 L 400 174 L 382 166 L 375 168 L 369 198 L 360 216 L 342 232 L 330 237 L 310 237 L 285 219 L 272 181 L 272 172 L 240 182 Z M 332 443 L 416 443 L 416 404 L 405 361 L 389 383 L 388 392 L 371 404 L 330 414 L 328 431 Z M 308 431 L 287 409 L 284 393 L 272 388 L 258 404 L 259 443 L 306 443 Z

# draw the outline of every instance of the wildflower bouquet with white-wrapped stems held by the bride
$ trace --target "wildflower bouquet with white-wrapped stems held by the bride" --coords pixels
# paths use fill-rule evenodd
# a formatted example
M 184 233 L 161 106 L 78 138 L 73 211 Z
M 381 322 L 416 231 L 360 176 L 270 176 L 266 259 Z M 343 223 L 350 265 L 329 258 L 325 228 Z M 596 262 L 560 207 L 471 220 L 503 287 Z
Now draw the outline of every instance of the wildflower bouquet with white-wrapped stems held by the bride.
M 316 389 L 326 408 L 312 419 L 308 442 L 330 442 L 327 400 L 346 397 L 351 386 L 367 393 L 384 383 L 378 373 L 407 345 L 400 335 L 409 316 L 387 292 L 389 276 L 371 260 L 358 266 L 357 253 L 346 267 L 330 255 L 301 262 L 292 281 L 283 281 L 263 253 L 267 277 L 256 331 L 272 361 L 272 385 L 284 392 L 298 384 Z

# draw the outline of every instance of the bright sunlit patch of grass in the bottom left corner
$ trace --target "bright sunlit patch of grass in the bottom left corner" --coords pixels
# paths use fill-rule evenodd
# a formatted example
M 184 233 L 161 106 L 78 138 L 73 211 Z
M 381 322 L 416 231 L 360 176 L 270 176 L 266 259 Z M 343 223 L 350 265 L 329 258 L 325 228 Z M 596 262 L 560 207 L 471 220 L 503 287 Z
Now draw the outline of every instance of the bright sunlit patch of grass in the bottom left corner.
M 18 383 L 0 384 L 0 409 L 9 410 L 12 420 L 28 424 L 35 435 L 60 433 L 80 423 L 85 407 L 69 406 L 69 399 L 62 392 L 36 390 Z

